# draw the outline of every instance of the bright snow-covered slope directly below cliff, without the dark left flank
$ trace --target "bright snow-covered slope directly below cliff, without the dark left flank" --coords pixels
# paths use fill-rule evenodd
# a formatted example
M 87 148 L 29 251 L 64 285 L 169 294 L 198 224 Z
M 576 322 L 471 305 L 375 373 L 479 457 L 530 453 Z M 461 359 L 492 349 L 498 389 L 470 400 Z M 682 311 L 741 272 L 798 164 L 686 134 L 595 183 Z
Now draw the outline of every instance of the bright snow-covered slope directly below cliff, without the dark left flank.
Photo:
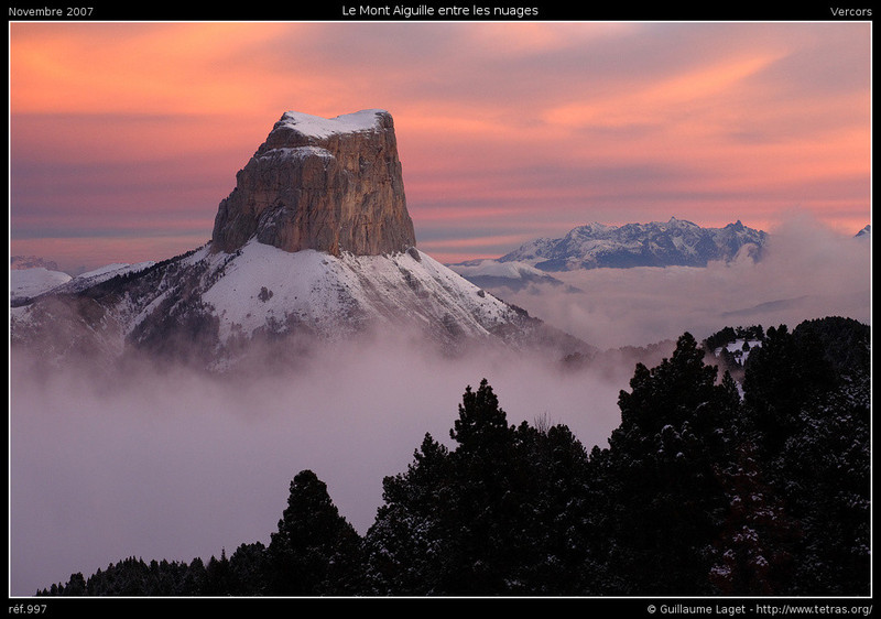
M 220 319 L 220 337 L 251 336 L 268 324 L 305 325 L 345 336 L 368 323 L 448 324 L 488 335 L 513 310 L 420 252 L 339 258 L 316 250 L 286 252 L 255 240 L 236 254 L 194 256 L 222 276 L 203 301 Z M 406 318 L 402 318 L 405 316 Z

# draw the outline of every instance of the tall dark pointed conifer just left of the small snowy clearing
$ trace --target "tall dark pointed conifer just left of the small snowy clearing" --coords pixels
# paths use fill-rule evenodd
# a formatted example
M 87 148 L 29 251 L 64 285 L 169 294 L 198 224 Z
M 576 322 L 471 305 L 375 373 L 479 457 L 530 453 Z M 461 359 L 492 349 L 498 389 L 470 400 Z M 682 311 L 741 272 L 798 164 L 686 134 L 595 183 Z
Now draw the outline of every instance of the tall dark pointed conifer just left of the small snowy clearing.
M 638 365 L 620 393 L 621 424 L 602 459 L 619 593 L 713 593 L 711 544 L 727 508 L 715 466 L 728 458 L 740 405 L 731 381 L 716 378 L 686 333 L 656 368 Z

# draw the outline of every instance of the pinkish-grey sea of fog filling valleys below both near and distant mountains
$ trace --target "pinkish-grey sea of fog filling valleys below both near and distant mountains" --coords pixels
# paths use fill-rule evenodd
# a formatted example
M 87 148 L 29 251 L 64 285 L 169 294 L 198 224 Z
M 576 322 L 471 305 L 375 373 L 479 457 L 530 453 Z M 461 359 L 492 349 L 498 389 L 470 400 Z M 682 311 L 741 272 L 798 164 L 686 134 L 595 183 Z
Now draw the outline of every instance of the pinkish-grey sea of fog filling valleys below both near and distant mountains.
M 507 300 L 600 348 L 826 315 L 868 323 L 869 256 L 863 239 L 800 224 L 779 230 L 758 264 L 559 274 L 583 292 Z M 13 358 L 10 593 L 130 556 L 188 563 L 268 544 L 307 468 L 365 533 L 382 478 L 406 469 L 424 435 L 453 445 L 466 385 L 487 378 L 510 423 L 564 423 L 590 449 L 618 425 L 632 370 L 629 360 L 578 371 L 520 355 L 449 360 L 388 343 L 248 380 L 144 370 L 106 383 L 76 369 L 28 376 Z

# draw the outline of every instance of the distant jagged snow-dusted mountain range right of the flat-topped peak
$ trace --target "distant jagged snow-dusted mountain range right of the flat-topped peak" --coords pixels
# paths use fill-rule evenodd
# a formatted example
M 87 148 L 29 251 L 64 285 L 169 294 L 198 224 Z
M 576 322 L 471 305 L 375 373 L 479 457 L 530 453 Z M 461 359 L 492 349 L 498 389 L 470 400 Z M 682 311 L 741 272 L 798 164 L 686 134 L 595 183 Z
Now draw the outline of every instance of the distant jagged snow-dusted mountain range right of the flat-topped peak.
M 761 257 L 766 234 L 740 221 L 724 228 L 701 228 L 671 218 L 651 224 L 589 224 L 557 239 L 530 241 L 499 258 L 540 271 L 629 267 L 706 267 L 710 261 Z

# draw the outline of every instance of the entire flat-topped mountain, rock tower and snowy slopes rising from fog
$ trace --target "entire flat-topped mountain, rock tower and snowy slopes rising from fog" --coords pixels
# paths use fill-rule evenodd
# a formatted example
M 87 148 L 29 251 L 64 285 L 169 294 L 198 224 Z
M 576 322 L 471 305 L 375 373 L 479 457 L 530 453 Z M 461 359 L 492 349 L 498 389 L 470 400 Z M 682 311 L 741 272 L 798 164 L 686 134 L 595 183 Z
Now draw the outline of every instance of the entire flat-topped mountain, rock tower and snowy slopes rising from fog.
M 446 354 L 589 351 L 416 249 L 391 117 L 368 112 L 286 113 L 220 203 L 211 241 L 23 300 L 11 308 L 13 349 L 56 363 L 149 358 L 210 371 L 283 365 L 307 346 L 358 338 Z

